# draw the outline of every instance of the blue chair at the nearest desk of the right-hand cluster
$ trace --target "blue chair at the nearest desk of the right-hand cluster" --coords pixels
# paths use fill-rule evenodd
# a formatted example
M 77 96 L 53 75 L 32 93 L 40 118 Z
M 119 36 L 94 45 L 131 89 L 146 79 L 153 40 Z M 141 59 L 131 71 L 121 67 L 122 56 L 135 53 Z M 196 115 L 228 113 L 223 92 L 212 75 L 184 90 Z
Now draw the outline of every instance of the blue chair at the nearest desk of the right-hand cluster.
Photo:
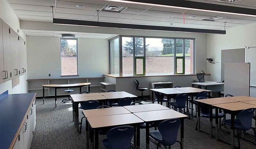
M 237 130 L 238 148 L 240 148 L 239 130 L 246 131 L 251 129 L 254 111 L 255 111 L 255 108 L 249 108 L 249 109 L 244 109 L 243 111 L 237 114 L 237 118 L 234 121 L 234 127 Z M 223 120 L 222 122 L 227 126 L 231 127 L 231 119 Z M 255 135 L 255 130 L 253 132 Z

